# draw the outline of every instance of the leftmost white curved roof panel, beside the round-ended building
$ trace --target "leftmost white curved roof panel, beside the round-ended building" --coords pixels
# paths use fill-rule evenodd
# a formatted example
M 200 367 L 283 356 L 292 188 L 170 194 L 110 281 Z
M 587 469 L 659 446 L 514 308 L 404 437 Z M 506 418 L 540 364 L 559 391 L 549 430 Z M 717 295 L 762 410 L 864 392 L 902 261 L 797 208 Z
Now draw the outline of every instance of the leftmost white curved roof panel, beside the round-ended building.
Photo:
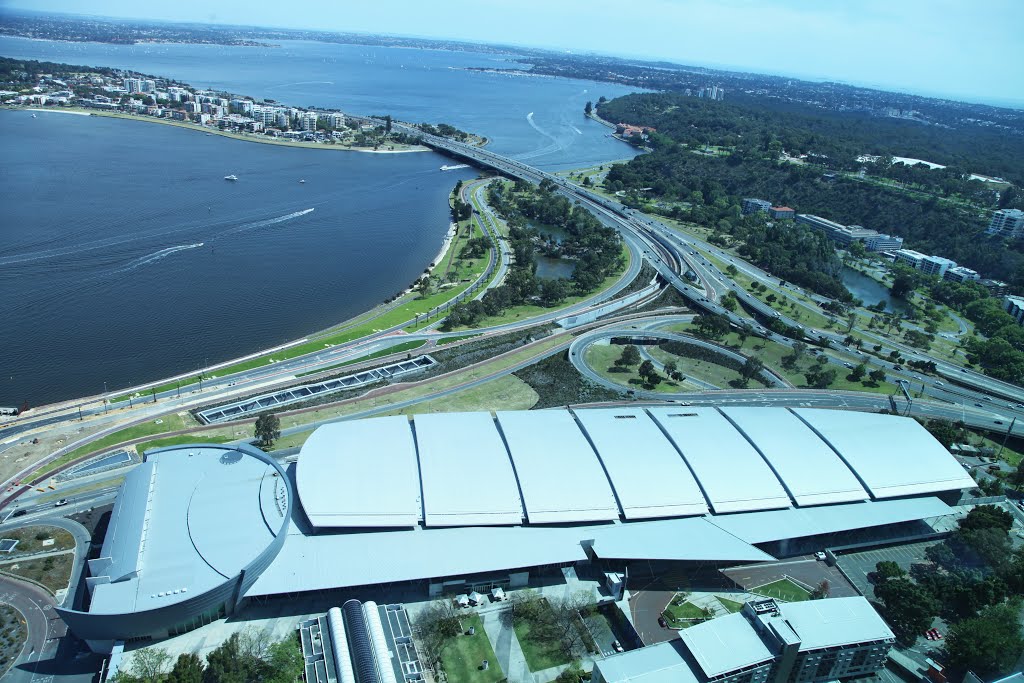
M 416 526 L 423 518 L 406 416 L 317 428 L 302 446 L 295 478 L 313 526 Z

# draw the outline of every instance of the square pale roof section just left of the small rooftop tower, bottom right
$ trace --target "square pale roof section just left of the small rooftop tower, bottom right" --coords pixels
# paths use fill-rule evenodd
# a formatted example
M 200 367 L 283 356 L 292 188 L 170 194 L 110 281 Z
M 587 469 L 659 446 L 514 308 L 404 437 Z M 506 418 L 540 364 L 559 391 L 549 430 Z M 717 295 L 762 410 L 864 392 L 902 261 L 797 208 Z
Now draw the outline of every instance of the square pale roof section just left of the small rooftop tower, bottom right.
M 727 614 L 679 632 L 708 678 L 774 661 L 772 651 L 742 614 Z

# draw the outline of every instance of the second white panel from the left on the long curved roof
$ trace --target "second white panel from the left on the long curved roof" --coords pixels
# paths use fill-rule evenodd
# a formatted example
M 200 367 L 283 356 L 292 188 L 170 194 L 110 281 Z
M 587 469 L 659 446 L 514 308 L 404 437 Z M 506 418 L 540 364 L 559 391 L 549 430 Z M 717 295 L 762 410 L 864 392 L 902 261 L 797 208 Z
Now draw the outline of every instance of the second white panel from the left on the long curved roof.
M 515 472 L 489 413 L 417 415 L 413 422 L 427 526 L 522 523 Z

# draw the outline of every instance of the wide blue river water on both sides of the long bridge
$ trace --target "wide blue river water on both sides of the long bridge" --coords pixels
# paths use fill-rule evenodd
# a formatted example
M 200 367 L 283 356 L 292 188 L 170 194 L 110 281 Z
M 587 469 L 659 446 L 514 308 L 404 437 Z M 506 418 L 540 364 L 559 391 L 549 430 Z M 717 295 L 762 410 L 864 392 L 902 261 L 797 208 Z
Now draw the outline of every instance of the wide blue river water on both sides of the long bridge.
M 509 66 L 495 55 L 7 37 L 0 54 L 446 122 L 548 169 L 634 154 L 582 115 L 627 89 L 465 70 Z M 433 153 L 291 150 L 67 114 L 0 112 L 0 404 L 193 371 L 369 309 L 433 260 L 447 194 L 475 175 L 438 172 L 449 161 Z

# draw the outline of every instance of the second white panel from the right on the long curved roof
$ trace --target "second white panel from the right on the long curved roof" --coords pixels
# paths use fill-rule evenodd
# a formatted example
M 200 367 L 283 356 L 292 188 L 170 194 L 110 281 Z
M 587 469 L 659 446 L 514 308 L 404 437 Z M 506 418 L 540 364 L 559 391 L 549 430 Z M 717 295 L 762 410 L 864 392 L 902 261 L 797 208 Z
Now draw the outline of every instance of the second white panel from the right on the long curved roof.
M 786 409 L 723 408 L 722 413 L 757 444 L 797 505 L 869 498 L 836 452 Z

